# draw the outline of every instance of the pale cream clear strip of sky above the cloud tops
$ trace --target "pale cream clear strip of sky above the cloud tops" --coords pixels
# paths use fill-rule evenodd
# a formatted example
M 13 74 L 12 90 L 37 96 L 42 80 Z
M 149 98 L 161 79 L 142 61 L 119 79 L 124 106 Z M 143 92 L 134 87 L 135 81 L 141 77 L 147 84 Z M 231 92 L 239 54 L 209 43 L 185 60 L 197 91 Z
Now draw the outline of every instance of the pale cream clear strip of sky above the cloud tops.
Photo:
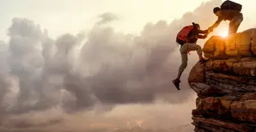
M 186 11 L 195 9 L 204 0 L 1 0 L 2 16 L 0 39 L 6 38 L 6 29 L 13 17 L 26 17 L 46 28 L 57 37 L 62 33 L 77 33 L 89 29 L 98 21 L 97 15 L 112 12 L 119 16 L 115 29 L 125 33 L 138 33 L 147 22 L 172 21 Z M 180 8 L 182 7 L 182 8 Z

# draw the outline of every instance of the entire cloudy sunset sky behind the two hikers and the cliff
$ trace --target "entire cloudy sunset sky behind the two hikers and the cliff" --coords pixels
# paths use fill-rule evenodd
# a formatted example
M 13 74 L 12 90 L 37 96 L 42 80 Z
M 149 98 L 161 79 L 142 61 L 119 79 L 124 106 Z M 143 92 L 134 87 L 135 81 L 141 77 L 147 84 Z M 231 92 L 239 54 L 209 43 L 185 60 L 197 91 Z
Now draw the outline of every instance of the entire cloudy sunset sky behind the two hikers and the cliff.
M 239 32 L 254 27 L 255 2 L 235 2 L 243 4 Z M 0 131 L 191 131 L 196 94 L 187 75 L 198 57 L 189 56 L 177 91 L 174 38 L 192 21 L 210 27 L 220 3 L 0 1 Z M 225 22 L 210 35 L 223 32 Z

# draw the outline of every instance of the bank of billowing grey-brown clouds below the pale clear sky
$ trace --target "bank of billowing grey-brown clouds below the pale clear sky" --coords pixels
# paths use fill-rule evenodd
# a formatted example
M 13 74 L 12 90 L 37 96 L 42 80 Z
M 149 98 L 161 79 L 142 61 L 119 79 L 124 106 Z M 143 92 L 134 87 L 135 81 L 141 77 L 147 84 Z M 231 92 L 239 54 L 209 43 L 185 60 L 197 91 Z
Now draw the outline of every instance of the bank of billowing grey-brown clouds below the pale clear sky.
M 65 33 L 58 39 L 51 39 L 34 21 L 14 18 L 9 27 L 9 42 L 0 45 L 5 47 L 0 52 L 3 55 L 0 57 L 3 131 L 11 131 L 10 128 L 18 132 L 39 131 L 39 128 L 47 131 L 53 129 L 53 124 L 58 128 L 55 131 L 61 131 L 65 122 L 81 116 L 76 115 L 79 112 L 108 113 L 119 105 L 149 105 L 157 101 L 173 105 L 187 102 L 193 93 L 186 78 L 198 58 L 195 54 L 190 56 L 191 65 L 182 76 L 178 92 L 172 84 L 180 66 L 180 47 L 174 38 L 181 27 L 192 21 L 202 28 L 209 27 L 216 21 L 210 16 L 211 8 L 219 3 L 221 1 L 202 3 L 193 12 L 170 23 L 147 23 L 138 36 L 102 27 L 101 24 L 117 19 L 110 13 L 102 14 L 101 21 L 87 34 Z M 31 115 L 48 116 L 44 111 L 55 109 L 64 114 L 64 118 L 41 120 Z M 24 117 L 15 118 L 20 116 Z M 145 115 L 137 117 L 147 118 Z M 160 122 L 162 117 L 150 121 Z M 81 120 L 83 123 L 86 118 Z M 111 129 L 119 123 L 108 127 L 110 121 L 107 118 L 104 121 L 98 124 L 103 129 Z M 72 124 L 68 126 L 72 131 L 84 129 L 74 130 Z M 26 127 L 21 129 L 20 126 Z

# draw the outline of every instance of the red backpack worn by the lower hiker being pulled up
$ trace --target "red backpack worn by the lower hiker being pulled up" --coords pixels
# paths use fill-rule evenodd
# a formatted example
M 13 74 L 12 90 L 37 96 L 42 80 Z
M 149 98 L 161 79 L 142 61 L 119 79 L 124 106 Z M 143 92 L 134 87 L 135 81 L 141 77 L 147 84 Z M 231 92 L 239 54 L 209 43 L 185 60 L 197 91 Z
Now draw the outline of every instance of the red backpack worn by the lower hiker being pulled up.
M 180 32 L 177 34 L 176 42 L 180 45 L 185 44 L 186 43 L 186 38 L 187 38 L 188 34 L 192 31 L 193 28 L 194 28 L 193 25 L 183 27 L 180 30 Z

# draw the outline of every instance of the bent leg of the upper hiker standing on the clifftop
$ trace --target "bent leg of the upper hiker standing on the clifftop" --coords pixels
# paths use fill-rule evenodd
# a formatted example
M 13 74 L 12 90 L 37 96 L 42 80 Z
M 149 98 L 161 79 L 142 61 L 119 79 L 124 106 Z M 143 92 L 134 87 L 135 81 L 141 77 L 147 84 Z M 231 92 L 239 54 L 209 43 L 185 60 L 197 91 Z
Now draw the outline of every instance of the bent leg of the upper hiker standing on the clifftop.
M 237 32 L 241 21 L 243 21 L 243 16 L 237 15 L 229 22 L 229 35 Z

